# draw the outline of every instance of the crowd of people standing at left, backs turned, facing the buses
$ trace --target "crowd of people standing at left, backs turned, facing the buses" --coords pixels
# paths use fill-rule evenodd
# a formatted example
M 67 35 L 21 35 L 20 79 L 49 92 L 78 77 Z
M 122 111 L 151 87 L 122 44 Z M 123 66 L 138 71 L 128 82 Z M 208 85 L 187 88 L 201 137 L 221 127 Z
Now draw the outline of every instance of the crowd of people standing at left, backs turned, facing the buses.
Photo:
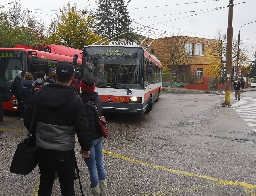
M 50 69 L 47 77 L 42 71 L 38 78 L 20 71 L 14 79 L 12 91 L 18 100 L 18 119 L 24 120 L 28 130 L 32 126 L 29 142 L 38 147 L 38 196 L 51 196 L 57 175 L 61 194 L 75 195 L 75 134 L 89 170 L 92 195 L 107 195 L 98 113 L 93 104 L 88 104 L 94 103 L 101 116 L 102 101 L 94 90 L 94 80 L 81 80 L 80 72 L 67 61 L 59 62 L 55 70 Z M 36 115 L 31 122 L 34 107 Z

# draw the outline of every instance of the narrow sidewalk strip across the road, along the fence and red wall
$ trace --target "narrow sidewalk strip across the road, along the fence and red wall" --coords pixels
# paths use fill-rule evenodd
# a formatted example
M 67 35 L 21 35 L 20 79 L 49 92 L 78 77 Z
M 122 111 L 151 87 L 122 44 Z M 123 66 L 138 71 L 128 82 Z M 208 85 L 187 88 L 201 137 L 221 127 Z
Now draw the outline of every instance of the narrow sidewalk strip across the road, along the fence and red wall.
M 187 89 L 187 88 L 183 88 L 183 87 L 167 87 L 167 86 L 162 86 L 162 92 L 164 91 L 179 91 L 179 92 L 205 92 L 205 93 L 212 93 L 212 92 L 217 92 L 217 91 L 225 91 L 225 89 L 223 90 L 217 90 L 217 89 L 213 89 L 210 91 L 205 91 L 205 90 L 197 90 L 197 89 Z M 231 91 L 234 91 L 234 89 L 231 89 Z M 256 91 L 256 88 L 244 88 L 244 90 L 241 92 L 249 92 L 249 91 Z

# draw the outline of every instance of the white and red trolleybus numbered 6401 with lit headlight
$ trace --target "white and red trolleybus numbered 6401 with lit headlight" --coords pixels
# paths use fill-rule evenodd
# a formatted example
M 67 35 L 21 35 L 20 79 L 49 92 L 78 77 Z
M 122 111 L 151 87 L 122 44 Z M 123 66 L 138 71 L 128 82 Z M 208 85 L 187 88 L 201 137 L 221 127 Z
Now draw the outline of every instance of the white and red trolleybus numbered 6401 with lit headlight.
M 105 112 L 148 113 L 161 94 L 160 61 L 135 42 L 85 46 L 82 69 L 95 80 Z

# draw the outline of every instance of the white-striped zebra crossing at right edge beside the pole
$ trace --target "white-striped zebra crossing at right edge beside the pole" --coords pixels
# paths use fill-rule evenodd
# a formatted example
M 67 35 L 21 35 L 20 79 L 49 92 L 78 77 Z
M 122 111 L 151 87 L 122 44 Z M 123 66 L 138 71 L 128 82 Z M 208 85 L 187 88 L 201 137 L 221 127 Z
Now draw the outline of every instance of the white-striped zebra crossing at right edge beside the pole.
M 225 91 L 220 91 L 218 94 L 225 99 Z M 256 132 L 256 99 L 241 94 L 240 100 L 235 101 L 235 92 L 231 91 L 230 104 L 243 120 L 253 128 L 253 131 Z

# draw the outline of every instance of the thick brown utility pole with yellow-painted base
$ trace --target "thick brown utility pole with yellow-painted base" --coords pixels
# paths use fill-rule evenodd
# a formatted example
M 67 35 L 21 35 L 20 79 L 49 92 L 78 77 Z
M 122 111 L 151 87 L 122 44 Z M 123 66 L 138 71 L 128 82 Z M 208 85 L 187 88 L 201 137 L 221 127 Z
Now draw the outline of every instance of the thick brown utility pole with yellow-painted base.
M 226 49 L 226 82 L 225 82 L 225 103 L 230 105 L 231 89 L 231 64 L 232 64 L 232 40 L 233 40 L 233 0 L 228 0 L 228 32 Z

